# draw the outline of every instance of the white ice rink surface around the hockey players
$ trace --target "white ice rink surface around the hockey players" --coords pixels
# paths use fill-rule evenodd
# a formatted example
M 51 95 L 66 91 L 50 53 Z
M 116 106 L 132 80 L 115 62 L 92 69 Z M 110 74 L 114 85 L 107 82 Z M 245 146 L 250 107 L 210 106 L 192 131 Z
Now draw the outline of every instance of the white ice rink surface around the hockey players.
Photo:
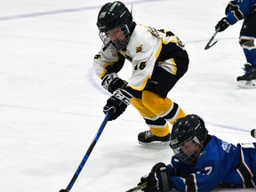
M 0 191 L 57 192 L 83 159 L 109 97 L 92 69 L 101 45 L 97 15 L 107 2 L 0 0 Z M 242 21 L 204 51 L 228 0 L 124 3 L 138 23 L 172 30 L 186 44 L 188 73 L 168 96 L 187 114 L 202 116 L 221 139 L 255 141 L 250 136 L 255 89 L 236 85 L 236 76 L 244 73 L 238 44 Z M 131 72 L 127 62 L 120 76 Z M 137 135 L 145 130 L 132 106 L 108 122 L 71 191 L 125 191 L 157 162 L 168 164 L 170 148 L 138 144 Z

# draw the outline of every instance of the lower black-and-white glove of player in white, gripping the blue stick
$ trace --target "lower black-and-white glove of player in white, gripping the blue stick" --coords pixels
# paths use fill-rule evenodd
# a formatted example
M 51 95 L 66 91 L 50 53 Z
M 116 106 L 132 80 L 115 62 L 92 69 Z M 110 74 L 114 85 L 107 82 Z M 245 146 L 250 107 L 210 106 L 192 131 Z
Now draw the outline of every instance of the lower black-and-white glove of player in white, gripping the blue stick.
M 123 114 L 125 108 L 130 104 L 132 94 L 126 92 L 124 89 L 117 89 L 113 92 L 113 95 L 107 100 L 107 104 L 103 108 L 103 112 L 106 114 L 109 110 L 112 110 L 108 121 L 115 120 L 118 116 Z

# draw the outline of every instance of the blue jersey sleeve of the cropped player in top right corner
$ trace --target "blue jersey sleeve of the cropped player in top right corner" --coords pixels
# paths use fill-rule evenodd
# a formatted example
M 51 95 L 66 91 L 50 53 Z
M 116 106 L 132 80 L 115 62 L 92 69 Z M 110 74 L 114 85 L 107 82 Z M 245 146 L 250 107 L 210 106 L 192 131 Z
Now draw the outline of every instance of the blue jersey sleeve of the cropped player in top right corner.
M 252 12 L 256 12 L 256 0 L 233 0 L 229 2 L 225 13 L 233 25 L 237 20 L 244 20 Z

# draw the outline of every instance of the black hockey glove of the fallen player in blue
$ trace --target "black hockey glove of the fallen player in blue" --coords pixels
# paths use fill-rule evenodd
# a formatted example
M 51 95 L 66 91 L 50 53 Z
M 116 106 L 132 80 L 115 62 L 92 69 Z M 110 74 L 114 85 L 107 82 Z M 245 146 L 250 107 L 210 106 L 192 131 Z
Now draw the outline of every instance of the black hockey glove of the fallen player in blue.
M 151 172 L 140 179 L 140 183 L 138 185 L 141 186 L 144 183 L 147 183 L 147 186 L 141 190 L 145 192 L 167 192 L 174 188 L 171 175 L 164 163 L 155 164 L 152 167 Z

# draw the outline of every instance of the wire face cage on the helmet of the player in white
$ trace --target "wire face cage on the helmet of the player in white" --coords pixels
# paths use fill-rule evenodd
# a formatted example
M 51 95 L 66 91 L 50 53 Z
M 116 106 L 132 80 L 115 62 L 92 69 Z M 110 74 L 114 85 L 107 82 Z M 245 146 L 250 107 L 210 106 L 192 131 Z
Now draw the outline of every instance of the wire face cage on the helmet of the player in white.
M 116 36 L 115 39 L 110 39 L 111 34 L 115 35 L 116 33 L 118 33 L 118 31 L 121 31 L 123 35 Z M 120 26 L 112 28 L 106 32 L 100 32 L 99 36 L 103 44 L 108 47 L 108 49 L 119 51 L 128 44 L 130 38 L 130 31 L 126 24 L 121 24 Z

